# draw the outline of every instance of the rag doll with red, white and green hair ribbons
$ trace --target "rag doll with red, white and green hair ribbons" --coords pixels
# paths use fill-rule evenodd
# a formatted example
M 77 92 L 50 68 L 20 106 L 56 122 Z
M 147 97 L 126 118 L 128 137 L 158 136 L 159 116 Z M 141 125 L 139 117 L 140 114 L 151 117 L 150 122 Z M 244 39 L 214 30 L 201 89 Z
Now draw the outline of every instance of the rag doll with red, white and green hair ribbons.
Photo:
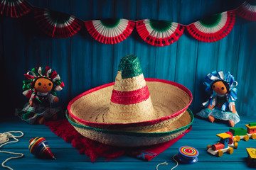
M 46 119 L 57 119 L 59 108 L 51 108 L 58 102 L 55 91 L 63 89 L 63 82 L 54 69 L 36 67 L 24 74 L 23 95 L 29 98 L 23 108 L 16 109 L 16 115 L 31 124 L 43 124 Z

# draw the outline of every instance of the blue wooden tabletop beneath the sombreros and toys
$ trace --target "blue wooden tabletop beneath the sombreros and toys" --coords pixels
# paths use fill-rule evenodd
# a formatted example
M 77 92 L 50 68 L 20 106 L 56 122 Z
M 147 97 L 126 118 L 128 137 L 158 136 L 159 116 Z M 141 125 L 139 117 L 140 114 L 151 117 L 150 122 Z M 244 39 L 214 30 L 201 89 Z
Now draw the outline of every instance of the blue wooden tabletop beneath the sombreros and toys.
M 245 128 L 245 124 L 256 122 L 251 118 L 242 118 L 235 128 Z M 171 169 L 176 165 L 172 159 L 178 152 L 178 148 L 183 145 L 195 147 L 200 152 L 196 164 L 178 164 L 176 169 L 249 169 L 245 162 L 247 157 L 247 147 L 256 147 L 256 140 L 247 142 L 241 140 L 238 142 L 238 149 L 233 154 L 223 154 L 223 157 L 214 157 L 206 152 L 207 145 L 213 145 L 218 142 L 216 134 L 227 132 L 228 125 L 219 123 L 209 123 L 206 120 L 195 118 L 191 132 L 188 132 L 181 140 L 166 149 L 149 162 L 122 156 L 117 159 L 105 161 L 105 158 L 96 159 L 92 163 L 90 157 L 79 154 L 78 150 L 73 148 L 70 143 L 66 143 L 61 137 L 57 137 L 45 125 L 28 125 L 27 123 L 14 118 L 12 120 L 1 120 L 0 132 L 11 130 L 21 130 L 24 136 L 19 138 L 19 142 L 6 145 L 1 150 L 9 152 L 21 152 L 25 157 L 21 159 L 12 159 L 7 162 L 7 166 L 13 169 L 156 169 L 156 165 L 167 162 L 168 165 L 161 165 L 158 169 Z M 48 140 L 50 149 L 57 158 L 56 160 L 38 159 L 28 151 L 28 141 L 33 137 L 45 137 Z M 10 155 L 0 153 L 0 162 L 4 162 Z M 3 169 L 0 167 L 0 169 Z

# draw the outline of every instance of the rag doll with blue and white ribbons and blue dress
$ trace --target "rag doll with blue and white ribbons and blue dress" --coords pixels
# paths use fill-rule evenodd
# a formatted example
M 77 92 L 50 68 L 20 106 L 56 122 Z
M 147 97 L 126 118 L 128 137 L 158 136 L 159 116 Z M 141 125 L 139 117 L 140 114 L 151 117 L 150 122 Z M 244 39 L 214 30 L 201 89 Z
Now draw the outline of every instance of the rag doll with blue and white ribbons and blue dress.
M 235 100 L 237 99 L 238 82 L 230 72 L 225 74 L 220 71 L 214 71 L 207 75 L 206 91 L 210 92 L 210 98 L 203 103 L 205 109 L 197 113 L 202 118 L 208 118 L 213 123 L 215 118 L 220 120 L 228 120 L 231 127 L 240 121 L 240 117 L 235 110 Z

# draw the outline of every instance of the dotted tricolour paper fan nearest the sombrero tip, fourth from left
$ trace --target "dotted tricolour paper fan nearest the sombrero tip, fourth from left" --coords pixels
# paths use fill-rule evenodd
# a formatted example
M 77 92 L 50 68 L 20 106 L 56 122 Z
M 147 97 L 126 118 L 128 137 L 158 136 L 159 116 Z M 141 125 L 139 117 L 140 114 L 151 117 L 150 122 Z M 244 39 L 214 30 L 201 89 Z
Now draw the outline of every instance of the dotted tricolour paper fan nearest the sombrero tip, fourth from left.
M 136 28 L 139 36 L 155 46 L 170 45 L 183 34 L 184 26 L 170 21 L 144 19 L 137 21 Z

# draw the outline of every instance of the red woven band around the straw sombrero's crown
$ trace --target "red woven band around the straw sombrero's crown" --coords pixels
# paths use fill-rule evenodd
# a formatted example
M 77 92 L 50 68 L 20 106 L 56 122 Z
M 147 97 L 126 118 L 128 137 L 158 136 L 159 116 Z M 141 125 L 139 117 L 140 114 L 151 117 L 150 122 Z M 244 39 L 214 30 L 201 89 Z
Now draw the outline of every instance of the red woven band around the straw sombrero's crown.
M 147 86 L 134 91 L 112 91 L 111 101 L 117 104 L 135 104 L 146 101 L 149 98 L 149 89 Z

